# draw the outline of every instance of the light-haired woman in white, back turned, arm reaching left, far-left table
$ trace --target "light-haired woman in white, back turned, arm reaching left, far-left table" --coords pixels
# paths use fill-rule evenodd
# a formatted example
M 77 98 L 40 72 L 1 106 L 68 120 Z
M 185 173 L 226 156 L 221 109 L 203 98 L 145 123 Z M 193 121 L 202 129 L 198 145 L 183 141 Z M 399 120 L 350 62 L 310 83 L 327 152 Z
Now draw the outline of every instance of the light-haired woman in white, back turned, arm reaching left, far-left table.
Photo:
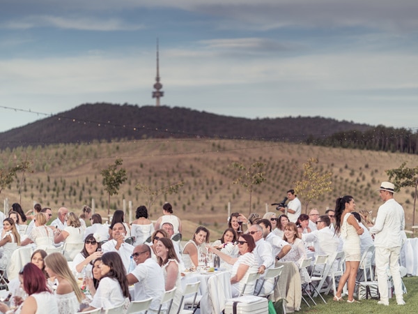
M 43 213 L 35 215 L 35 227 L 33 227 L 29 237 L 22 241 L 21 246 L 34 243 L 36 248 L 44 250 L 45 248 L 54 248 L 54 231 L 47 227 L 47 217 Z

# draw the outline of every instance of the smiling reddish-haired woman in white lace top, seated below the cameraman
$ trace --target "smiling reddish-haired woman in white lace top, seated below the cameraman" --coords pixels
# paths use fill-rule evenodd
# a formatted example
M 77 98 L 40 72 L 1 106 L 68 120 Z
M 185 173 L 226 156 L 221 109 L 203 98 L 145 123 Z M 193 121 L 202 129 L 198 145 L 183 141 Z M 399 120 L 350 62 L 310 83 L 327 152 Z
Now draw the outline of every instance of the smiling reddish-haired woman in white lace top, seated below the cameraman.
M 288 223 L 284 227 L 283 239 L 291 245 L 291 251 L 284 255 L 280 262 L 293 262 L 299 268 L 302 260 L 307 258 L 307 251 L 305 250 L 302 239 L 300 239 L 295 223 Z M 300 269 L 300 280 L 302 283 L 309 282 L 309 274 L 306 268 Z

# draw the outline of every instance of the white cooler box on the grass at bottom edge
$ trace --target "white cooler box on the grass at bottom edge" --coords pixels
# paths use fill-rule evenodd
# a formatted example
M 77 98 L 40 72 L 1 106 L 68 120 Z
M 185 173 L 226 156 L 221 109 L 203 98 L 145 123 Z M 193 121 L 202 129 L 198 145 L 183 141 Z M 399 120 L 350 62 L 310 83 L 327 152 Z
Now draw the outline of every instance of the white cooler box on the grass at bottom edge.
M 235 308 L 235 311 L 234 311 Z M 268 313 L 268 299 L 245 295 L 229 299 L 225 304 L 225 314 L 266 314 Z

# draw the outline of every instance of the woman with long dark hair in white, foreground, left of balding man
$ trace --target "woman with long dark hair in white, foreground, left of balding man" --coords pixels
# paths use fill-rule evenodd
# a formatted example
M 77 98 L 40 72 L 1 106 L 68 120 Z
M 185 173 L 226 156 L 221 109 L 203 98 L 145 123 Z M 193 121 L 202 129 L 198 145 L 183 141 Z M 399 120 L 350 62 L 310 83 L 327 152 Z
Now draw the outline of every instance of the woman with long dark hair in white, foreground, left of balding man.
M 100 272 L 102 278 L 100 278 L 98 290 L 96 290 L 90 306 L 83 311 L 95 308 L 107 310 L 123 305 L 121 313 L 126 314 L 127 308 L 130 306 L 129 286 L 125 276 L 126 270 L 118 253 L 107 252 L 102 255 Z

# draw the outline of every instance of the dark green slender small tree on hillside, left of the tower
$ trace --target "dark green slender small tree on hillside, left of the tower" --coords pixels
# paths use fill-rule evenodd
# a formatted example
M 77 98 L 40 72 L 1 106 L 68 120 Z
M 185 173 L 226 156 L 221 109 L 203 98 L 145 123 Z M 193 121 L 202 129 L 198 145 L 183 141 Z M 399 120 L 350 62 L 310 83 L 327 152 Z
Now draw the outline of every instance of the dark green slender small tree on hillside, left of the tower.
M 109 165 L 106 169 L 100 171 L 102 174 L 104 190 L 109 195 L 109 200 L 107 202 L 107 216 L 110 216 L 110 197 L 111 195 L 118 195 L 118 190 L 121 184 L 126 181 L 127 175 L 125 168 L 118 170 L 118 166 L 122 165 L 123 160 L 117 158 L 113 165 Z

